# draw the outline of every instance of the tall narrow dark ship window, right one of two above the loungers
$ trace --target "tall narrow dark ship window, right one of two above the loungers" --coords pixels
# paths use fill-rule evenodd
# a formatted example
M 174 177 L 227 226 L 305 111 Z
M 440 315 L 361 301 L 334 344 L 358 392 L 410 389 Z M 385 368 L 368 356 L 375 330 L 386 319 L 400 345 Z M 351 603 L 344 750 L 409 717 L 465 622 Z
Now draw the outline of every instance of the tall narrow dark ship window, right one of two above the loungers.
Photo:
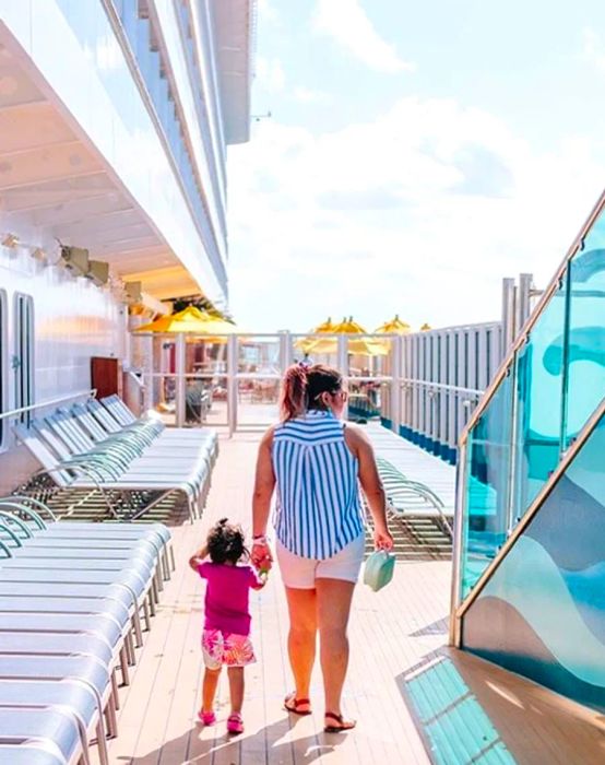
M 34 403 L 34 301 L 21 293 L 14 301 L 14 405 L 23 409 Z M 22 412 L 19 419 L 29 425 L 32 412 Z

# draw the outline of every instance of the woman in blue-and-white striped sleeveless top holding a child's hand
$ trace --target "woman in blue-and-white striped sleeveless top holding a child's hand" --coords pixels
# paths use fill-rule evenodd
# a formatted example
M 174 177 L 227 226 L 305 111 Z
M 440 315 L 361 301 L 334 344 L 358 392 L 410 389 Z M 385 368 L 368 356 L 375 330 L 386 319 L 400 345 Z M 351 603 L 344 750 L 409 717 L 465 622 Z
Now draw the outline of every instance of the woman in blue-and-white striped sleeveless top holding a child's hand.
M 377 549 L 390 550 L 384 490 L 371 445 L 340 419 L 347 393 L 336 369 L 292 366 L 285 375 L 282 423 L 259 447 L 253 495 L 252 563 L 266 567 L 271 498 L 276 487 L 276 554 L 289 612 L 288 656 L 295 690 L 285 707 L 309 715 L 309 683 L 319 633 L 325 731 L 355 727 L 341 695 L 348 664 L 347 623 L 364 558 L 359 484 L 373 520 Z

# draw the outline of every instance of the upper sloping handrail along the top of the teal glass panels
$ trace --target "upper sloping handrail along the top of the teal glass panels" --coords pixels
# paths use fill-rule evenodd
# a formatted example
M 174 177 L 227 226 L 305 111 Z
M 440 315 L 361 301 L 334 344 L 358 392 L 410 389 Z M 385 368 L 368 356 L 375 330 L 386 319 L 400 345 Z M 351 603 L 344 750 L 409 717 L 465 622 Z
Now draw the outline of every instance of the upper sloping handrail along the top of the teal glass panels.
M 550 283 L 544 290 L 542 297 L 539 298 L 538 304 L 532 311 L 532 314 L 527 317 L 525 323 L 521 328 L 521 331 L 518 333 L 517 339 L 513 341 L 511 344 L 510 349 L 508 350 L 507 355 L 502 360 L 502 363 L 498 367 L 498 372 L 494 376 L 494 379 L 487 387 L 487 390 L 485 391 L 484 398 L 479 401 L 478 405 L 474 410 L 473 414 L 471 415 L 468 422 L 466 423 L 464 429 L 462 431 L 462 434 L 460 436 L 460 444 L 465 444 L 466 440 L 468 439 L 468 434 L 473 429 L 473 427 L 476 425 L 477 421 L 482 416 L 482 414 L 485 412 L 487 409 L 487 405 L 494 398 L 494 395 L 496 393 L 496 390 L 500 386 L 500 382 L 507 375 L 507 370 L 510 367 L 511 363 L 514 360 L 515 353 L 519 351 L 519 349 L 523 345 L 525 342 L 525 339 L 527 334 L 531 332 L 533 329 L 534 325 L 537 322 L 538 318 L 542 316 L 544 313 L 544 309 L 550 302 L 550 298 L 557 291 L 557 287 L 559 285 L 559 282 L 561 278 L 565 274 L 565 271 L 569 264 L 569 261 L 576 252 L 578 252 L 579 249 L 581 249 L 584 237 L 589 233 L 589 231 L 592 228 L 594 222 L 598 217 L 600 213 L 602 212 L 603 208 L 605 207 L 605 191 L 602 192 L 601 197 L 598 198 L 598 201 L 592 209 L 590 215 L 588 216 L 586 221 L 584 222 L 584 225 L 580 228 L 580 233 L 578 236 L 573 239 L 571 246 L 569 247 L 567 255 L 564 258 L 562 263 L 559 266 L 557 271 L 555 272 L 555 275 L 553 276 Z

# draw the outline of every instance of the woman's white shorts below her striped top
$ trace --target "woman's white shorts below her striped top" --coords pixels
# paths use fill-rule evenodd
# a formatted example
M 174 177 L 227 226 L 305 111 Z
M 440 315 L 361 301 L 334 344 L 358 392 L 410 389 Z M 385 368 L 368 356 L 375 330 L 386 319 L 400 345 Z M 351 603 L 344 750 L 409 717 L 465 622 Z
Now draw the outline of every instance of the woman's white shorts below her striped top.
M 335 555 L 323 561 L 295 555 L 280 540 L 276 543 L 277 563 L 284 585 L 297 590 L 315 590 L 316 579 L 344 579 L 356 582 L 365 549 L 366 536 L 363 533 Z

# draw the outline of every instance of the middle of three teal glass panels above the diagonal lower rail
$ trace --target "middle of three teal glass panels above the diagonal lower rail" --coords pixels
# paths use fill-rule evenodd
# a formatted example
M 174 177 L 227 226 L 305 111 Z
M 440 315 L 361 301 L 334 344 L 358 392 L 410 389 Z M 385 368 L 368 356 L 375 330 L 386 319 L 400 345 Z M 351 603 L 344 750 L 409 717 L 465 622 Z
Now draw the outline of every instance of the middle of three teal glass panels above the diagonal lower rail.
M 559 461 L 564 367 L 549 365 L 548 360 L 564 334 L 566 306 L 564 279 L 517 354 L 511 528 Z

